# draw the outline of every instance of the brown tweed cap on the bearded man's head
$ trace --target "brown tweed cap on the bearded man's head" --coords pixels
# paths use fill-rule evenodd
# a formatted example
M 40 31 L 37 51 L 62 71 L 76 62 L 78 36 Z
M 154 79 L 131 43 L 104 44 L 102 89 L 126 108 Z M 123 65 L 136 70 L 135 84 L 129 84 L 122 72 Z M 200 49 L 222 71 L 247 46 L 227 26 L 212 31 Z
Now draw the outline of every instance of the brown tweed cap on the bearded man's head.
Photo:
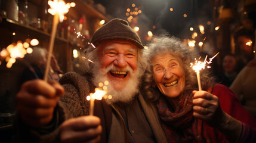
M 126 41 L 143 49 L 143 45 L 137 33 L 129 26 L 127 21 L 119 18 L 114 18 L 100 27 L 100 29 L 92 35 L 91 43 L 98 46 L 101 42 L 109 40 Z

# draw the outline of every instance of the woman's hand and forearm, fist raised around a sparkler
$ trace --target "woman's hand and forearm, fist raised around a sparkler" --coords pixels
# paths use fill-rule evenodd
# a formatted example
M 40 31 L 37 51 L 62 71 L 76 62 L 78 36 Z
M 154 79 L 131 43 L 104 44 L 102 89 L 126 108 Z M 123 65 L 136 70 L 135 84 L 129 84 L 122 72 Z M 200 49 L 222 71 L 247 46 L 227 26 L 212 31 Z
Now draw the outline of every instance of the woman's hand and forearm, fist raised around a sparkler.
M 237 142 L 242 130 L 239 120 L 221 110 L 218 97 L 206 91 L 193 91 L 193 116 L 222 132 L 229 142 Z

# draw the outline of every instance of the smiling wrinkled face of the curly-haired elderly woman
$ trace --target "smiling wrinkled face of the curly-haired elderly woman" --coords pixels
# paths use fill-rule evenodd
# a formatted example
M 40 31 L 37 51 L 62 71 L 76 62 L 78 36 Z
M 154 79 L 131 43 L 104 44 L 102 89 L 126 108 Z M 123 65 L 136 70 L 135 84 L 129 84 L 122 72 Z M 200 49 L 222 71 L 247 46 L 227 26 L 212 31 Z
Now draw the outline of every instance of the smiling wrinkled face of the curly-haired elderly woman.
M 171 54 L 158 54 L 152 60 L 153 79 L 166 97 L 177 98 L 185 88 L 185 73 L 181 60 Z

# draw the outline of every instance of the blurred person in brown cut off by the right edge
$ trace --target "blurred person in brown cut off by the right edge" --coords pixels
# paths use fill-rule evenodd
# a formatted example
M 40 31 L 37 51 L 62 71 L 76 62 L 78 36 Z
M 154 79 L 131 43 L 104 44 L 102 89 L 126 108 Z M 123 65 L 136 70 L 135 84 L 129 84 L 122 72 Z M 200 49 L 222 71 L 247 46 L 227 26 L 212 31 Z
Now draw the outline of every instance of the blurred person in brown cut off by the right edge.
M 256 60 L 249 62 L 230 86 L 242 105 L 256 117 Z

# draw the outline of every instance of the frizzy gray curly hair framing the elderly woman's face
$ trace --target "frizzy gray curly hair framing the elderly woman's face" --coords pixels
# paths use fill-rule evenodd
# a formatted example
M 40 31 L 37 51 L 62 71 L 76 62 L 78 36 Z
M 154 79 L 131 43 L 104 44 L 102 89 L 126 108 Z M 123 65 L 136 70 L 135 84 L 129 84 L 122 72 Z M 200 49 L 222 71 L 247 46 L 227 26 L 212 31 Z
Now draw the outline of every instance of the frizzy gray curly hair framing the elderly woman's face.
M 156 101 L 159 98 L 158 87 L 152 88 L 153 81 L 153 66 L 151 64 L 153 58 L 159 54 L 169 53 L 174 57 L 181 59 L 181 66 L 183 67 L 186 75 L 186 85 L 184 92 L 198 90 L 198 81 L 196 78 L 195 70 L 190 67 L 190 63 L 193 63 L 194 58 L 198 56 L 195 52 L 191 51 L 189 47 L 185 46 L 180 39 L 174 36 L 168 35 L 155 36 L 151 42 L 147 45 L 148 49 L 144 49 L 144 56 L 147 61 L 147 69 L 143 76 L 143 92 L 145 93 L 147 100 Z M 205 70 L 201 72 L 201 85 L 202 89 L 206 90 L 214 84 L 214 78 L 209 77 L 209 71 Z

